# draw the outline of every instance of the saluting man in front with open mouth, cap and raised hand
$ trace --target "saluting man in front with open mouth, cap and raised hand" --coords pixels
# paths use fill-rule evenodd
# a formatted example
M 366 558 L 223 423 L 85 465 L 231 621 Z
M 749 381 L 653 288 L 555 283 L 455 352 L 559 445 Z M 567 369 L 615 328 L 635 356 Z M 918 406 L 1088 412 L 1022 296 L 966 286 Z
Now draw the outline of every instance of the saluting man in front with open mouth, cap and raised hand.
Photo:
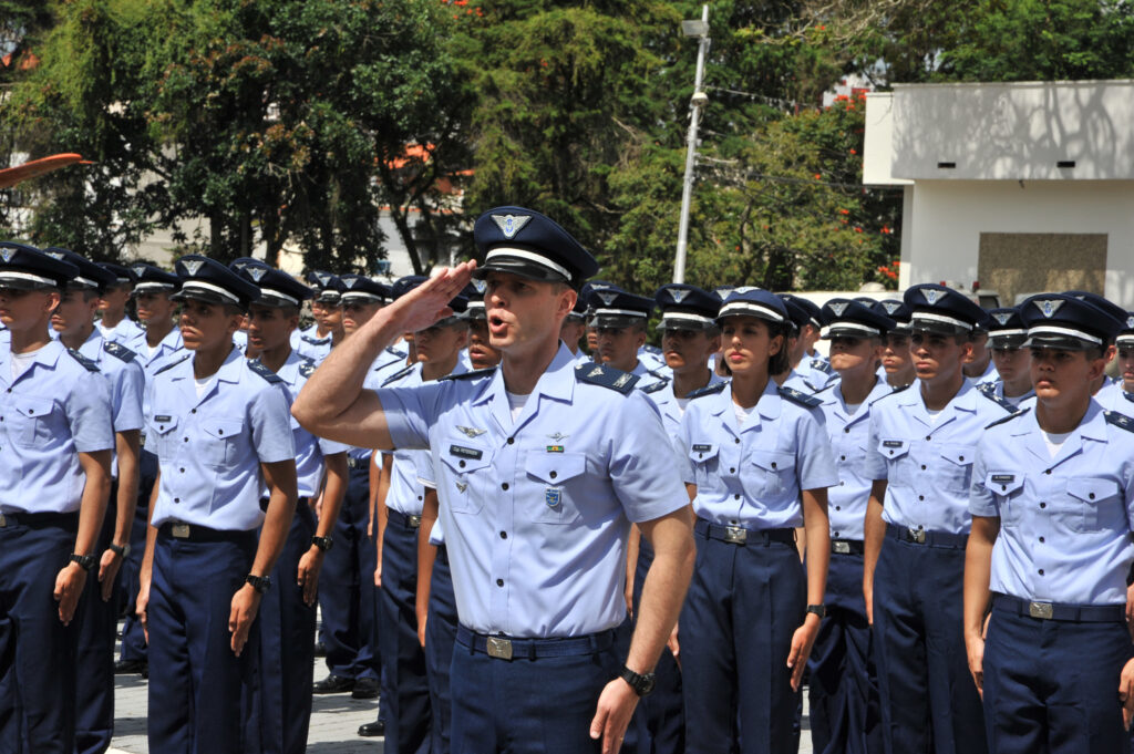
M 521 207 L 490 210 L 474 238 L 486 255 L 481 273 L 500 368 L 416 388 L 362 388 L 367 365 L 398 332 L 448 315 L 474 266 L 465 263 L 332 351 L 295 414 L 342 441 L 432 451 L 462 622 L 454 751 L 593 752 L 598 738 L 617 751 L 692 569 L 687 500 L 635 376 L 577 368 L 559 341 L 594 259 Z M 623 664 L 612 650 L 626 616 L 631 522 L 655 557 Z

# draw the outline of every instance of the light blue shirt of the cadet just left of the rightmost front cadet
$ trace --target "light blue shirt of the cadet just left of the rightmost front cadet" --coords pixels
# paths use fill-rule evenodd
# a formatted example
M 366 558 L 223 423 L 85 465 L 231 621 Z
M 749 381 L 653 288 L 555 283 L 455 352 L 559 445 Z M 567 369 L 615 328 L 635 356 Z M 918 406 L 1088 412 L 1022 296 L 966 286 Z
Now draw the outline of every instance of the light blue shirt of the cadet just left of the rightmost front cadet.
M 930 418 L 921 380 L 871 407 L 866 478 L 887 480 L 882 520 L 926 532 L 967 534 L 976 441 L 1010 412 L 968 380 Z

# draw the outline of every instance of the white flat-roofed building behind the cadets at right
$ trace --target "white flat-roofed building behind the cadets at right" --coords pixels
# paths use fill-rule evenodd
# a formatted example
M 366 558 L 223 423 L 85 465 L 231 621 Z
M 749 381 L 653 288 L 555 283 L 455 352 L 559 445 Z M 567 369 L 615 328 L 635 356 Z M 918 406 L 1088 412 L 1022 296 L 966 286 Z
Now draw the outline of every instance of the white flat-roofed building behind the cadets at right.
M 896 85 L 866 95 L 863 184 L 904 187 L 902 287 L 1134 308 L 1134 81 Z

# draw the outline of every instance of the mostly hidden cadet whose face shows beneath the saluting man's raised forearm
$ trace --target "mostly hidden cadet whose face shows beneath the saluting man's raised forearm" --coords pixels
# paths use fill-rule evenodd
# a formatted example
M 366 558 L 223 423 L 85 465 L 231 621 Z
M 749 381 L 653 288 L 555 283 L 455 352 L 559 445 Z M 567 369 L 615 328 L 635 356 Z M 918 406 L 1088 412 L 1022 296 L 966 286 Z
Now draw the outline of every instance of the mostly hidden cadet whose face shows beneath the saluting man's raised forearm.
M 399 287 L 408 295 L 424 279 Z M 468 325 L 458 316 L 468 299 L 458 294 L 449 302 L 448 316 L 412 333 L 416 362 L 389 375 L 382 388 L 413 388 L 468 371 L 460 358 L 468 341 Z M 418 642 L 417 562 L 418 528 L 425 495 L 417 467 L 429 450 L 395 448 L 389 486 L 378 501 L 378 559 L 381 584 L 378 595 L 382 658 L 382 698 L 388 702 L 386 747 L 397 754 L 428 752 L 431 728 L 448 738 L 443 726 L 431 720 L 430 684 L 425 652 Z

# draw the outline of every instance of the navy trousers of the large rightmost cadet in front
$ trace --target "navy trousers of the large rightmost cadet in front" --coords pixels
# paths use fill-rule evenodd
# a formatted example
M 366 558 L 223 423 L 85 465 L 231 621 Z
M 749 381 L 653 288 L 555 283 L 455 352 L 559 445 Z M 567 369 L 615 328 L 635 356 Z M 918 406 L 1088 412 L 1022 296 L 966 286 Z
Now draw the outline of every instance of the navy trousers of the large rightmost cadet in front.
M 984 719 L 997 754 L 1129 752 L 1118 676 L 1122 622 L 1040 620 L 993 608 L 984 643 Z

